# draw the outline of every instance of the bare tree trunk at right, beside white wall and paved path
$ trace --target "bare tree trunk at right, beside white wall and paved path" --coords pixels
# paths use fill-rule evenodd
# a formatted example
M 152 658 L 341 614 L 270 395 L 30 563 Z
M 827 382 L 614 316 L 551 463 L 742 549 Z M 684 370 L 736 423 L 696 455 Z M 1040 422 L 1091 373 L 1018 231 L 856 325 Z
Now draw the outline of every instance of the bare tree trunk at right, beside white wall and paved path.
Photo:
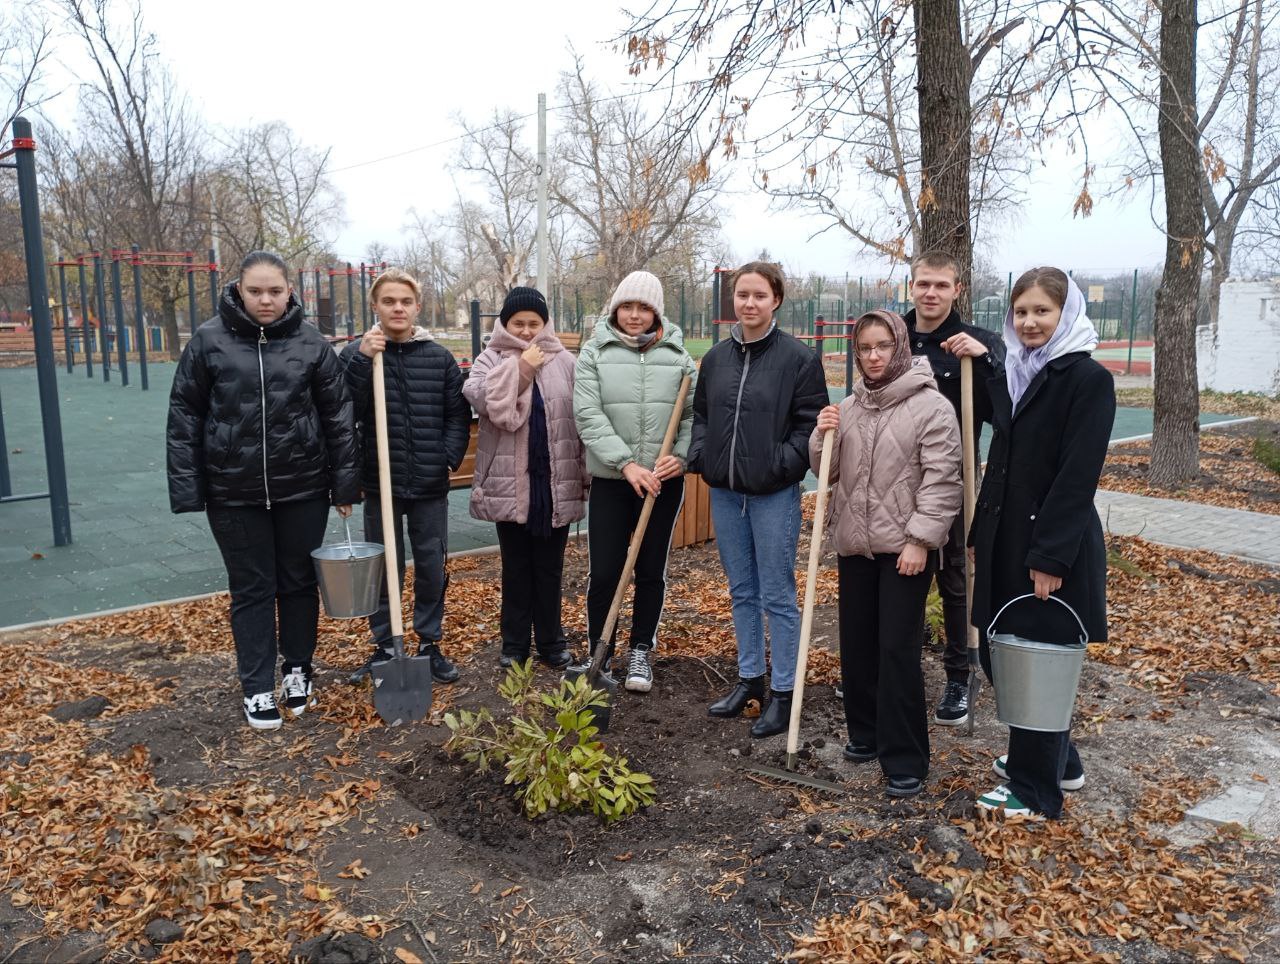
M 1199 471 L 1196 307 L 1204 260 L 1196 124 L 1197 0 L 1164 0 L 1160 20 L 1160 160 L 1165 173 L 1165 270 L 1156 292 L 1156 414 L 1151 481 Z

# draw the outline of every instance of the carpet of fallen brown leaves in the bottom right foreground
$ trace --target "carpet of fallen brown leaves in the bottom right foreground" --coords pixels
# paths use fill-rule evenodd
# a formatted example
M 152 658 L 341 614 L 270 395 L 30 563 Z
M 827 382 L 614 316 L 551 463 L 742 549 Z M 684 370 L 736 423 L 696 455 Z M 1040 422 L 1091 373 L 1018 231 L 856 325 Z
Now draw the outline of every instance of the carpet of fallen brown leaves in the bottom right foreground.
M 960 869 L 918 841 L 906 874 L 945 887 L 951 906 L 918 903 L 895 881 L 818 922 L 791 959 L 1119 961 L 1124 944 L 1142 941 L 1144 959 L 1244 960 L 1243 935 L 1274 892 L 1233 841 L 1175 850 L 1101 817 L 959 826 L 983 869 Z

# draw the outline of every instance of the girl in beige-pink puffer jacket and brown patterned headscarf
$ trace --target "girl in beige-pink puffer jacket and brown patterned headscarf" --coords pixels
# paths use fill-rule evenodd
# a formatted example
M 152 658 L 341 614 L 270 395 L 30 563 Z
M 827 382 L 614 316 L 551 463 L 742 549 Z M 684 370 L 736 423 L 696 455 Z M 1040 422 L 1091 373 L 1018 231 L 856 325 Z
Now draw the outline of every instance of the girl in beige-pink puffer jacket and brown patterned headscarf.
M 960 428 L 929 362 L 911 357 L 892 311 L 858 319 L 861 382 L 818 416 L 809 454 L 836 433 L 829 529 L 838 553 L 845 758 L 879 759 L 890 796 L 914 796 L 929 768 L 920 670 L 936 553 L 960 511 Z

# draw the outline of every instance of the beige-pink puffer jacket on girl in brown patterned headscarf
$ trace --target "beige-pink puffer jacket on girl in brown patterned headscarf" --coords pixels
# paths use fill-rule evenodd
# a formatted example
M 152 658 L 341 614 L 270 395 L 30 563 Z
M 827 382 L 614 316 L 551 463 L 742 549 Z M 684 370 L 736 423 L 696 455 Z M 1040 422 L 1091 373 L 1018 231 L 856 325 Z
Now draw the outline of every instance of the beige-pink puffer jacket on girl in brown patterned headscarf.
M 822 433 L 809 437 L 814 472 Z M 960 511 L 960 426 L 925 357 L 884 388 L 859 382 L 840 403 L 827 531 L 841 556 L 938 548 Z

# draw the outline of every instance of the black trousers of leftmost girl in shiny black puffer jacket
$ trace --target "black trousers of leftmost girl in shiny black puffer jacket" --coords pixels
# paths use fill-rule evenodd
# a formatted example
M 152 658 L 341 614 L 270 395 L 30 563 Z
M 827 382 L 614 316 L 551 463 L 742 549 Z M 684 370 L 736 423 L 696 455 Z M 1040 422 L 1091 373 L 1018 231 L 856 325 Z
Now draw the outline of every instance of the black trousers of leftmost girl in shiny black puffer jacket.
M 329 502 L 210 506 L 207 516 L 227 566 L 241 686 L 246 696 L 273 693 L 276 650 L 285 666 L 311 668 L 320 617 L 311 550 L 324 542 Z

